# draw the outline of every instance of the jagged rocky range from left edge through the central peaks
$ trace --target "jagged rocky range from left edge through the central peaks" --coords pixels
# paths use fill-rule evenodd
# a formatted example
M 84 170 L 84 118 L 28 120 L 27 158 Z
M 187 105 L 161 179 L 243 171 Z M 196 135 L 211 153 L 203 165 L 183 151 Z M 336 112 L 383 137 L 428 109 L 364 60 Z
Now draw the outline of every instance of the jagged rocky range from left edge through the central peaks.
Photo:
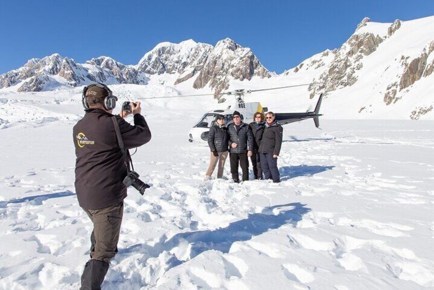
M 146 84 L 150 74 L 162 73 L 179 74 L 174 84 L 195 78 L 194 88 L 208 85 L 216 93 L 228 88 L 230 78 L 243 81 L 251 80 L 254 75 L 271 76 L 250 49 L 226 38 L 215 47 L 192 40 L 180 44 L 161 43 L 146 53 L 136 66 L 124 65 L 107 56 L 77 64 L 68 57 L 53 54 L 42 60 L 32 59 L 23 67 L 0 75 L 0 88 L 19 82 L 25 82 L 21 91 L 43 90 L 50 82 L 72 87 L 91 82 Z M 61 76 L 65 83 L 55 81 L 54 75 Z

